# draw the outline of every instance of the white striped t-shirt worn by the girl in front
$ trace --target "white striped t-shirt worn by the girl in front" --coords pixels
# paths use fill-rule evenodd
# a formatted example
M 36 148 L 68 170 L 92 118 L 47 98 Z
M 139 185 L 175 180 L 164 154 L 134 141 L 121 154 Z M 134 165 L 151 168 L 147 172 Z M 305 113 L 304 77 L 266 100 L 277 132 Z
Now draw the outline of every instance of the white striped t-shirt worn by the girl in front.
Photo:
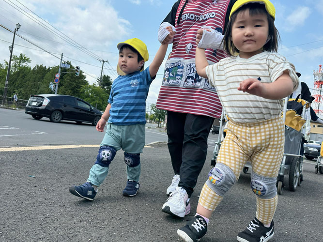
M 228 57 L 206 67 L 210 84 L 215 86 L 221 104 L 234 122 L 258 122 L 280 115 L 283 100 L 270 100 L 247 92 L 238 91 L 240 82 L 256 78 L 263 83 L 274 82 L 285 70 L 289 70 L 297 88 L 299 80 L 286 58 L 263 51 L 248 59 Z

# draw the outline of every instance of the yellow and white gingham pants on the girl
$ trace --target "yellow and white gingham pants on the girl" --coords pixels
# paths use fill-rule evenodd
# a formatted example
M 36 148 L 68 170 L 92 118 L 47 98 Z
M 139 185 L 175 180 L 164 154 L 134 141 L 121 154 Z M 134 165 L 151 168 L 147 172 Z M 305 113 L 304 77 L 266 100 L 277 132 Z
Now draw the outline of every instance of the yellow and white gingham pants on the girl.
M 252 171 L 256 174 L 263 177 L 277 177 L 284 153 L 284 143 L 284 123 L 281 117 L 255 123 L 235 123 L 230 120 L 216 162 L 229 166 L 237 180 L 247 161 L 251 162 Z M 255 196 L 256 217 L 263 224 L 269 224 L 276 211 L 277 195 L 271 199 Z M 205 183 L 199 203 L 202 207 L 214 211 L 222 198 Z

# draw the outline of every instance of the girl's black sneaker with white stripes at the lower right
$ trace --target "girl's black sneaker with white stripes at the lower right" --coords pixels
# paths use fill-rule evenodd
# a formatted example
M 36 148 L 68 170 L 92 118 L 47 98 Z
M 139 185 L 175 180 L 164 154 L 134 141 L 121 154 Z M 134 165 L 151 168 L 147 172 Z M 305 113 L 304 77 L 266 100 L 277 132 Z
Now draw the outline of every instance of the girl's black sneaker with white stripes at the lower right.
M 246 229 L 237 236 L 239 242 L 267 242 L 274 235 L 274 221 L 271 221 L 270 227 L 264 227 L 263 224 L 254 218 Z

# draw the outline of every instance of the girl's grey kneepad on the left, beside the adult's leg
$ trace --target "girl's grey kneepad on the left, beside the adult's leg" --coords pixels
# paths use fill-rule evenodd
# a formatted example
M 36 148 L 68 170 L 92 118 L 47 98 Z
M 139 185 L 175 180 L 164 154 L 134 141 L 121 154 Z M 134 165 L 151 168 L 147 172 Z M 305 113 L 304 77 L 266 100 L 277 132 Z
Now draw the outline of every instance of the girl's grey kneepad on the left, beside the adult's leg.
M 236 182 L 237 179 L 229 166 L 216 163 L 209 172 L 206 184 L 217 195 L 223 197 Z

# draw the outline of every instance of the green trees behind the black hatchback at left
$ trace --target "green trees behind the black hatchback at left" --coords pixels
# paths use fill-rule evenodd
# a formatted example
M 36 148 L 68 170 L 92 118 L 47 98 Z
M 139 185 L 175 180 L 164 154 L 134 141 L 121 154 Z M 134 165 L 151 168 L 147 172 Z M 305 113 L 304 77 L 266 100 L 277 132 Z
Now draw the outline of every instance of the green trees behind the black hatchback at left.
M 30 95 L 53 93 L 49 89 L 49 83 L 54 82 L 55 74 L 59 72 L 59 66 L 46 67 L 36 65 L 29 66 L 31 59 L 24 54 L 12 56 L 10 75 L 8 79 L 7 96 L 11 97 L 17 92 L 19 99 L 28 100 Z M 70 68 L 74 68 L 70 61 L 67 61 Z M 7 76 L 8 62 L 0 64 L 0 95 L 2 95 Z M 99 83 L 99 80 L 97 80 Z M 83 75 L 82 70 L 79 76 L 70 69 L 61 68 L 60 82 L 57 94 L 76 96 L 89 102 L 100 110 L 105 110 L 110 94 L 112 81 L 110 76 L 103 75 L 101 87 L 98 84 L 90 85 Z

